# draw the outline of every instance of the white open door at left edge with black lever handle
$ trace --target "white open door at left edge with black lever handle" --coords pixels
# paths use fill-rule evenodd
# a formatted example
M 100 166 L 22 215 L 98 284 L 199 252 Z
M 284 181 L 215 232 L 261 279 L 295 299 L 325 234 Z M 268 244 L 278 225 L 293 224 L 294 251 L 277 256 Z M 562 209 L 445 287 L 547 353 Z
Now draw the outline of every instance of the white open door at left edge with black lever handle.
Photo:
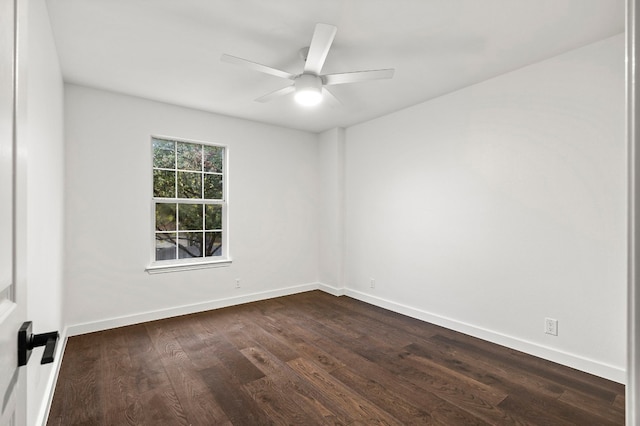
M 26 422 L 26 371 L 18 368 L 17 349 L 18 329 L 26 315 L 26 289 L 21 282 L 24 244 L 19 242 L 24 233 L 16 226 L 16 217 L 25 210 L 23 194 L 15 184 L 20 181 L 15 172 L 23 160 L 15 155 L 20 151 L 20 135 L 16 132 L 19 117 L 14 102 L 18 84 L 14 76 L 20 75 L 15 66 L 20 47 L 16 48 L 15 40 L 21 4 L 18 0 L 0 0 L 0 426 Z

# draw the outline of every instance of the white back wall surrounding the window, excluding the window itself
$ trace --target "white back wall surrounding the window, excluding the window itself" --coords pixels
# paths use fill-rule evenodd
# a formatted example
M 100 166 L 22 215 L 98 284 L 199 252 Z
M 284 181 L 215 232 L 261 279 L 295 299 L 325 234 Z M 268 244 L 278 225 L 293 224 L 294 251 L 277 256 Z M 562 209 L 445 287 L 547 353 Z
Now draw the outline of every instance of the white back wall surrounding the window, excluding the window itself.
M 317 287 L 316 135 L 74 85 L 65 109 L 70 333 Z M 145 272 L 151 135 L 228 145 L 231 266 Z

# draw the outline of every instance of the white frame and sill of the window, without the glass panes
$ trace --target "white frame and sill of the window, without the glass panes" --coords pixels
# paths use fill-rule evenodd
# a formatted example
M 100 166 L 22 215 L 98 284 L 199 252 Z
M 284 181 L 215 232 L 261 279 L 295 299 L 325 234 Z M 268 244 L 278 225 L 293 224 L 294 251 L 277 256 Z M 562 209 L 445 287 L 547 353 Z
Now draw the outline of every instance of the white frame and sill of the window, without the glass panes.
M 171 142 L 184 142 L 197 145 L 215 146 L 224 148 L 222 159 L 222 199 L 207 200 L 194 198 L 156 198 L 153 196 L 153 140 L 165 140 Z M 151 135 L 149 138 L 150 160 L 149 160 L 149 194 L 151 195 L 150 203 L 150 259 L 151 262 L 146 267 L 146 271 L 150 274 L 176 272 L 203 268 L 216 268 L 221 266 L 229 266 L 232 262 L 229 251 L 229 146 L 220 143 L 206 142 L 193 139 L 176 138 L 173 136 Z M 177 182 L 176 182 L 177 185 Z M 211 257 L 198 257 L 186 259 L 170 259 L 156 261 L 156 204 L 157 203 L 176 203 L 176 204 L 214 204 L 222 206 L 222 255 Z

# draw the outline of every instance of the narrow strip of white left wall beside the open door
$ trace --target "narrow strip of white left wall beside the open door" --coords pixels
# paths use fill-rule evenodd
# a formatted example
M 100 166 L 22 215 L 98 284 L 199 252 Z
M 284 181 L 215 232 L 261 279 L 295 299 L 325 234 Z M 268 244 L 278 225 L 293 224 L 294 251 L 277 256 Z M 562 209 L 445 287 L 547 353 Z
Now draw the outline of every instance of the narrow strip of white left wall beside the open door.
M 63 84 L 45 1 L 29 1 L 28 13 L 27 318 L 42 333 L 63 325 Z M 56 364 L 40 365 L 42 351 L 27 367 L 30 425 L 42 421 L 55 374 Z

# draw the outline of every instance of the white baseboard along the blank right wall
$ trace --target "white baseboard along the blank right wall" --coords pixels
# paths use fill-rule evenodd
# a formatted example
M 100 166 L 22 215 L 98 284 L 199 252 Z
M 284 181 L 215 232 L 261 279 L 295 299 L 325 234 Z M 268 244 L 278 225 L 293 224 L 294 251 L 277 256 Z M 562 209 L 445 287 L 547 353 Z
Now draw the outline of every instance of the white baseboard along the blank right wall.
M 322 290 L 322 288 L 320 288 Z M 411 306 L 396 303 L 387 299 L 362 293 L 357 290 L 345 289 L 344 295 L 353 297 L 354 299 L 388 309 L 399 314 L 407 315 L 422 321 L 436 324 L 454 331 L 468 334 L 482 340 L 486 340 L 498 345 L 506 346 L 517 351 L 537 356 L 558 364 L 566 365 L 577 370 L 581 370 L 599 377 L 603 377 L 614 382 L 625 384 L 627 381 L 627 373 L 624 368 L 605 364 L 592 359 L 584 358 L 579 355 L 563 352 L 537 343 L 519 339 L 517 337 L 508 336 L 472 324 L 467 324 L 451 318 L 435 315 L 430 312 L 413 308 Z

